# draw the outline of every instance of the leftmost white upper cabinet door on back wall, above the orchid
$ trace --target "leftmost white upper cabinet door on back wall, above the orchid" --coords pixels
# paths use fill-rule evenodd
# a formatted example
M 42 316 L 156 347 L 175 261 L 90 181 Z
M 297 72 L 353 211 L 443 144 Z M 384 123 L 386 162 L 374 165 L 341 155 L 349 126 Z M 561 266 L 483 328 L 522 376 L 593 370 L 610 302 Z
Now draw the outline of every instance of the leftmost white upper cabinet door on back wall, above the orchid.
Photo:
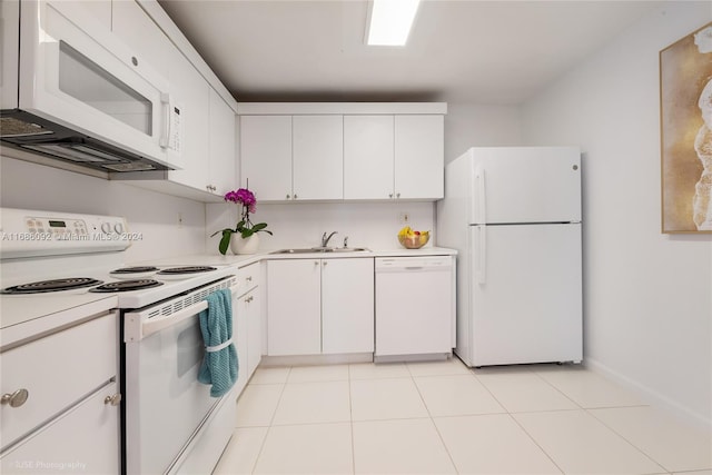
M 258 201 L 291 199 L 291 116 L 240 116 L 240 180 Z

